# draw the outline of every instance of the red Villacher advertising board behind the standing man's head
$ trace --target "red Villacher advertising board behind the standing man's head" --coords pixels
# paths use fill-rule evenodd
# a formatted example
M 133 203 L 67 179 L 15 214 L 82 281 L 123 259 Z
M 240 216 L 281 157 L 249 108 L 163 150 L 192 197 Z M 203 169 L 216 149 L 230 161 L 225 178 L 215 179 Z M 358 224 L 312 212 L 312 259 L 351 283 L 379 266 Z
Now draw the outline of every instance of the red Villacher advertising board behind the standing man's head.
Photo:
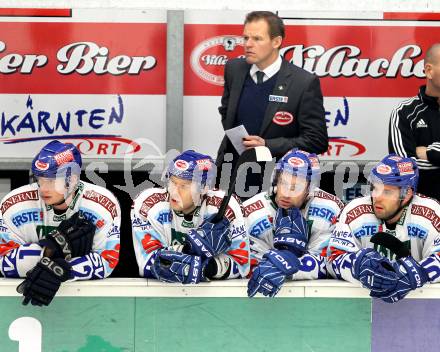
M 242 25 L 185 25 L 185 95 L 221 95 Z M 423 54 L 439 27 L 287 25 L 281 54 L 321 79 L 324 96 L 406 97 L 424 81 Z M 233 42 L 231 44 L 231 42 Z

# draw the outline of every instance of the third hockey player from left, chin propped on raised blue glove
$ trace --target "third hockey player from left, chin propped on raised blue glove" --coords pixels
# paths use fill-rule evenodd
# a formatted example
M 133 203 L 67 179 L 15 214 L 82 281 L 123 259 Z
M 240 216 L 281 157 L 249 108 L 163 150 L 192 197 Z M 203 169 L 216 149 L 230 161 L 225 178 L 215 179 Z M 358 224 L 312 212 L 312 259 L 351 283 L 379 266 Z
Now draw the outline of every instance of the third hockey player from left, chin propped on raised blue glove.
M 327 277 L 325 250 L 343 204 L 319 181 L 318 157 L 292 149 L 276 164 L 272 191 L 243 203 L 253 268 L 249 297 L 273 297 L 286 279 Z

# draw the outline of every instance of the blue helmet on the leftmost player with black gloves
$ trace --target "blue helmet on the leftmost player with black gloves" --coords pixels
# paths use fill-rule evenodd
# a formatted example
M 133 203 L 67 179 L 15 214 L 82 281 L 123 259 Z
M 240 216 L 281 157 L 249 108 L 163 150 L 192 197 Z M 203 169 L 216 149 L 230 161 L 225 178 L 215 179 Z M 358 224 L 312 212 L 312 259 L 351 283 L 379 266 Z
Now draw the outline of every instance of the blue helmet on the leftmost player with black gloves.
M 71 175 L 81 174 L 81 154 L 71 143 L 51 141 L 32 161 L 32 174 L 35 177 L 65 177 L 69 182 Z

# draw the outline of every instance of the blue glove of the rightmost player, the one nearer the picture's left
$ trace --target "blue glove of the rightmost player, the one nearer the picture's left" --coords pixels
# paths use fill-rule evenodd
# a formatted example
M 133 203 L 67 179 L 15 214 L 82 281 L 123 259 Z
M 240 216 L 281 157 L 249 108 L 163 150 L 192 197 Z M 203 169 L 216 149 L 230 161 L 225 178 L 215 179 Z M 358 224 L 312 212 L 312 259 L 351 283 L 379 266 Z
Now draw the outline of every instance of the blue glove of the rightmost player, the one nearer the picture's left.
M 393 271 L 391 261 L 372 248 L 356 252 L 352 275 L 363 287 L 371 290 L 370 295 L 387 292 L 396 286 L 399 275 Z

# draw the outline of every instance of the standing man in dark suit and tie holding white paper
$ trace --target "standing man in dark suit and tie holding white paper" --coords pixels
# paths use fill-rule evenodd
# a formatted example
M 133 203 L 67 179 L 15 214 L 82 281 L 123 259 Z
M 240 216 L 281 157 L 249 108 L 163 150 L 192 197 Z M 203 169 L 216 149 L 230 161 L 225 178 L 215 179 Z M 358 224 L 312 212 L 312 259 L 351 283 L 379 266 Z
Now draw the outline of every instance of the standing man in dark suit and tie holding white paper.
M 229 60 L 225 66 L 222 125 L 225 130 L 244 125 L 249 137 L 243 146 L 265 145 L 277 159 L 294 147 L 323 153 L 328 135 L 319 79 L 281 58 L 284 36 L 283 21 L 276 14 L 254 11 L 246 16 L 245 58 Z M 231 161 L 227 153 L 233 154 L 234 165 L 238 155 L 225 136 L 217 155 L 219 176 L 224 161 Z M 261 186 L 261 177 L 247 181 L 248 186 Z

